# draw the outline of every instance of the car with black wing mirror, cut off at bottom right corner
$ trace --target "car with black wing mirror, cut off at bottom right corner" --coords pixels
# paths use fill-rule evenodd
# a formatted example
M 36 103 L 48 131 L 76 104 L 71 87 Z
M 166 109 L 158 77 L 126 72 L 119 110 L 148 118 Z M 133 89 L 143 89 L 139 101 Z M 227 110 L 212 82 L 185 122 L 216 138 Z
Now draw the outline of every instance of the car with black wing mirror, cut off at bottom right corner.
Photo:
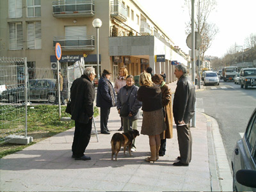
M 240 184 L 236 175 L 238 170 L 256 170 L 256 108 L 250 117 L 243 138 L 236 143 L 231 166 L 233 170 L 233 191 L 256 191 L 256 188 Z M 253 179 L 253 177 L 250 177 L 250 179 Z

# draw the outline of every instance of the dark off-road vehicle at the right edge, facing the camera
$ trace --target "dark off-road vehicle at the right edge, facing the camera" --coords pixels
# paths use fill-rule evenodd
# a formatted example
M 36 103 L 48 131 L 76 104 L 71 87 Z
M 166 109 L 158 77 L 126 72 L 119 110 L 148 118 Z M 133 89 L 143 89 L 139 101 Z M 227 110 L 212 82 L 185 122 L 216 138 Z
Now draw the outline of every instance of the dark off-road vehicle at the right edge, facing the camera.
M 241 88 L 256 86 L 256 68 L 242 68 L 240 72 Z

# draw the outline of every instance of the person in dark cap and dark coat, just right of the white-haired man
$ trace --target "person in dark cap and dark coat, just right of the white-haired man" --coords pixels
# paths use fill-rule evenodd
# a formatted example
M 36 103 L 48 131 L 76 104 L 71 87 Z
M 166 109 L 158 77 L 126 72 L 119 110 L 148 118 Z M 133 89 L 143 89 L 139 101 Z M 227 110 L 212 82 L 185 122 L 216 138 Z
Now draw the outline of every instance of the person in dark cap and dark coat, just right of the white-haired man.
M 116 95 L 113 84 L 109 81 L 111 72 L 104 69 L 97 88 L 97 107 L 100 108 L 100 132 L 110 134 L 108 117 L 110 108 L 116 106 Z

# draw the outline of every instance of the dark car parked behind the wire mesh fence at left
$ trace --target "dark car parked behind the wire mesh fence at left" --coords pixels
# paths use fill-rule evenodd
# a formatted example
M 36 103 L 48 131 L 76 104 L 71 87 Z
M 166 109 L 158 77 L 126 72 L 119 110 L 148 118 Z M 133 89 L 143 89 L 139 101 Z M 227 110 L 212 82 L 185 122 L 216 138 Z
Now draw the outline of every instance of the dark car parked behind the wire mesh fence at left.
M 56 79 L 31 79 L 29 80 L 28 96 L 31 101 L 55 102 L 57 92 L 55 88 Z M 7 99 L 9 102 L 18 102 L 25 100 L 24 86 L 7 88 L 1 94 L 1 99 Z

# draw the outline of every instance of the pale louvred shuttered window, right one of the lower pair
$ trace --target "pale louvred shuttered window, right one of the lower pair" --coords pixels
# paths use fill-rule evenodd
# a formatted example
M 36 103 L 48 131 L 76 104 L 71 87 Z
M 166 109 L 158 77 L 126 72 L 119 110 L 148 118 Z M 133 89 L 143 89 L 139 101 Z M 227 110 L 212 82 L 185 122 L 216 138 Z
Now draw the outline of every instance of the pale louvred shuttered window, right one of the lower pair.
M 42 30 L 41 22 L 28 22 L 28 49 L 42 48 Z

